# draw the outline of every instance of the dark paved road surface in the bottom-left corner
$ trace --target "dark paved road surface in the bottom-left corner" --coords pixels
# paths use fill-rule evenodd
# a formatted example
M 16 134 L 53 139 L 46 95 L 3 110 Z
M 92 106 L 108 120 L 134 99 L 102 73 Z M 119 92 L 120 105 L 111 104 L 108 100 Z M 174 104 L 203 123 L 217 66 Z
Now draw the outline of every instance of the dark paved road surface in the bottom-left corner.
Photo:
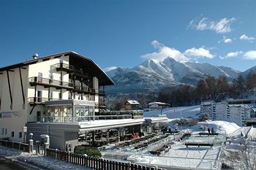
M 20 161 L 12 161 L 11 159 L 0 156 L 0 170 L 42 170 L 37 166 Z

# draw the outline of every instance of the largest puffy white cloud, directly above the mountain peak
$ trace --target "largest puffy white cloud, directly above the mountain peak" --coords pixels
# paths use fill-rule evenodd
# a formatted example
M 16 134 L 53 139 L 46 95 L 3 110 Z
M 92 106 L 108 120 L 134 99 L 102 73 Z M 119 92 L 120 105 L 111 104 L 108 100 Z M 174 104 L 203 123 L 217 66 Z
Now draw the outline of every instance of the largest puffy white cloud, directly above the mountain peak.
M 157 49 L 157 52 L 148 53 L 141 55 L 141 58 L 146 59 L 156 59 L 158 61 L 164 61 L 165 58 L 170 57 L 176 61 L 197 61 L 199 58 L 214 58 L 214 55 L 210 53 L 209 50 L 206 50 L 204 47 L 195 48 L 192 47 L 188 50 L 185 50 L 184 53 L 181 53 L 179 50 L 176 50 L 173 47 L 166 47 L 162 43 L 159 43 L 157 40 L 151 42 L 151 45 Z

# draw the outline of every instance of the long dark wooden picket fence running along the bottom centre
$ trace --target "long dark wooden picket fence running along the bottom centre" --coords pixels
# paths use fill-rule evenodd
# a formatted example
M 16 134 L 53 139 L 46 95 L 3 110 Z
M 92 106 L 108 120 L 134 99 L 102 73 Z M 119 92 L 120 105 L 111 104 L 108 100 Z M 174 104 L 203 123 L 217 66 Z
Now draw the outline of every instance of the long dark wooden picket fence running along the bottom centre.
M 46 149 L 46 156 L 60 161 L 86 166 L 91 169 L 100 170 L 162 170 L 156 167 L 141 166 L 135 163 L 124 163 L 118 161 L 105 160 L 103 158 L 90 158 L 86 155 L 78 155 L 62 150 Z

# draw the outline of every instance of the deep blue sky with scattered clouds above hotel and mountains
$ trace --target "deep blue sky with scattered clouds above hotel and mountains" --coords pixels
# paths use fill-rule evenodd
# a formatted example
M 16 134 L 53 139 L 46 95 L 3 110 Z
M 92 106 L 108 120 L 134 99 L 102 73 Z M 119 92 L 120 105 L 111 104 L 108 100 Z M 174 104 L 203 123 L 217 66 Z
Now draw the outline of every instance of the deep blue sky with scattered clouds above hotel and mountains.
M 0 0 L 0 67 L 75 51 L 99 66 L 148 58 L 256 66 L 256 1 Z

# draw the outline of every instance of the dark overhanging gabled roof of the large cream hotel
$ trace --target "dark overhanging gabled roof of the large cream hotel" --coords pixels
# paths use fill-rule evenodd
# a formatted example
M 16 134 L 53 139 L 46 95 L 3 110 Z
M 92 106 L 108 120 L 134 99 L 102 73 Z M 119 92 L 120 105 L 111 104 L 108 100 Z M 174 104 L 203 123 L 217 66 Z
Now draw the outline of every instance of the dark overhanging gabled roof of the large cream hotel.
M 78 53 L 75 53 L 73 51 L 69 52 L 64 52 L 64 53 L 57 53 L 53 55 L 48 55 L 45 57 L 40 57 L 40 58 L 35 58 L 29 61 L 23 61 L 21 63 L 16 63 L 10 66 L 5 66 L 0 68 L 0 72 L 5 71 L 5 70 L 10 70 L 10 69 L 15 69 L 18 67 L 23 67 L 23 66 L 29 66 L 31 64 L 37 63 L 39 61 L 46 61 L 50 58 L 58 58 L 61 55 L 64 56 L 69 56 L 69 58 L 74 59 L 75 61 L 78 61 L 78 63 L 75 64 L 80 64 L 80 66 L 83 66 L 86 63 L 86 68 L 90 72 L 90 74 L 93 77 L 97 77 L 99 79 L 99 85 L 114 85 L 115 83 L 113 80 L 108 77 L 108 75 L 97 65 L 97 63 L 94 63 L 90 58 L 86 58 L 83 55 L 80 55 Z

